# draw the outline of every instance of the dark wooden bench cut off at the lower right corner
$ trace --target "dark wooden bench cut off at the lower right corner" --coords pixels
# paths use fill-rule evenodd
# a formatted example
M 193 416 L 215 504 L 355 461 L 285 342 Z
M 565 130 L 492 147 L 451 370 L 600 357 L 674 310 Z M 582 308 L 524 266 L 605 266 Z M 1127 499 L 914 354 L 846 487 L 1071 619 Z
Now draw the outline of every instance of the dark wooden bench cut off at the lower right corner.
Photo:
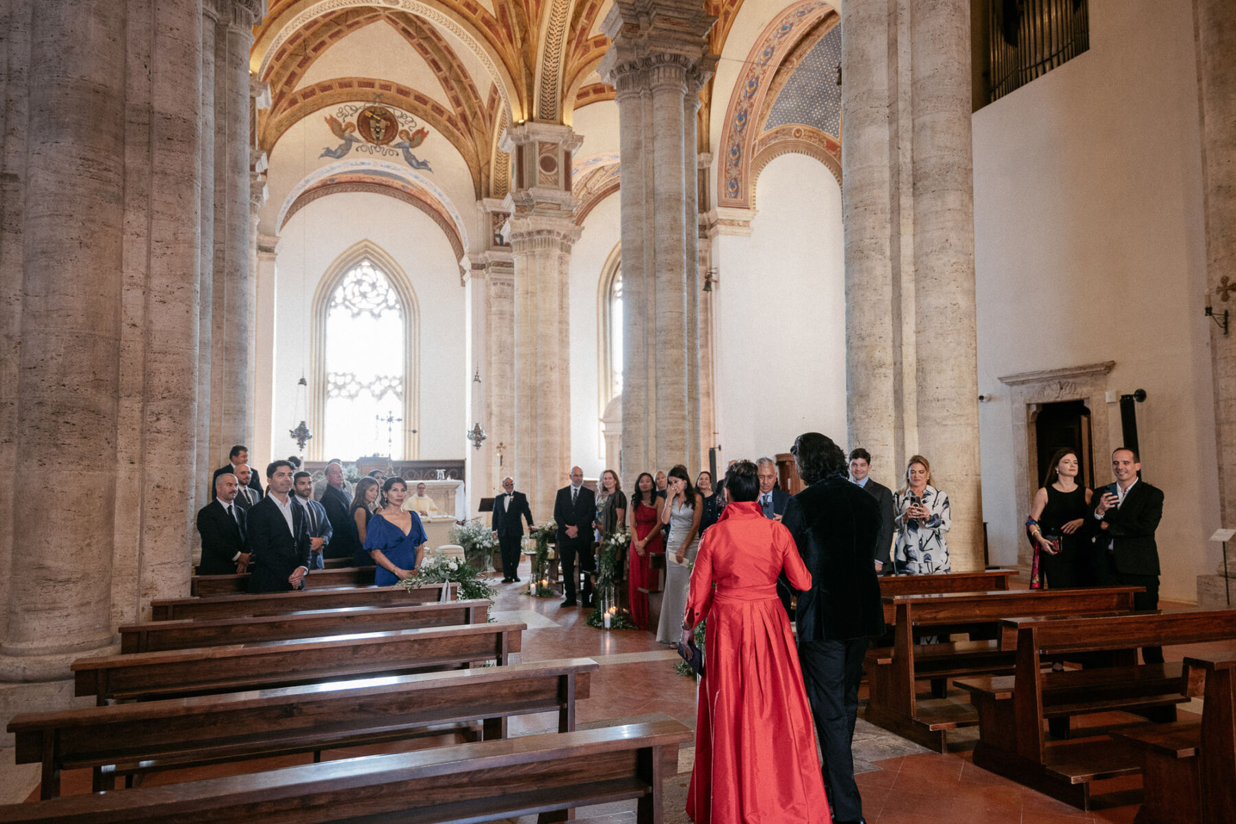
M 1142 757 L 1146 801 L 1136 824 L 1236 823 L 1236 651 L 1189 655 L 1190 694 L 1203 681 L 1201 723 L 1116 731 Z

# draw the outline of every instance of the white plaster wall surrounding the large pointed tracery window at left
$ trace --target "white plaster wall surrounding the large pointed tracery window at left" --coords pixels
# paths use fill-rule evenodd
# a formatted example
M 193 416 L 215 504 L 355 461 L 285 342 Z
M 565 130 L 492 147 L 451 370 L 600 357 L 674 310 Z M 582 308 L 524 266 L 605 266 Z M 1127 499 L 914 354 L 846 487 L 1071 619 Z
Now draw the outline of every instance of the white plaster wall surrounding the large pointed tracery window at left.
M 302 369 L 309 369 L 313 296 L 335 259 L 368 240 L 393 257 L 412 283 L 420 305 L 420 457 L 464 458 L 466 378 L 465 290 L 459 264 L 442 230 L 419 209 L 393 198 L 366 193 L 335 194 L 313 201 L 284 227 L 278 245 L 276 326 L 271 358 L 274 374 L 272 410 L 256 410 L 278 455 L 290 455 L 287 430 L 295 426 L 293 405 Z M 260 371 L 261 373 L 261 371 Z M 309 374 L 310 384 L 315 376 Z M 310 389 L 313 387 L 310 385 Z M 290 421 L 290 423 L 288 423 Z M 310 427 L 321 430 L 320 421 Z M 329 451 L 329 446 L 326 447 Z M 353 458 L 356 456 L 340 456 Z

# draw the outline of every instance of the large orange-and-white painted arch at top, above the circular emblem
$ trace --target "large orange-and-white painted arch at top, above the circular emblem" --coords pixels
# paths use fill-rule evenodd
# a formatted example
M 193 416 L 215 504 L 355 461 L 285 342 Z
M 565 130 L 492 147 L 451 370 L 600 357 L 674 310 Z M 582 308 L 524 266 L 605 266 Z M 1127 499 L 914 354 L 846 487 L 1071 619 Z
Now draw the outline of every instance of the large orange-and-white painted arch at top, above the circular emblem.
M 514 56 L 503 53 L 504 42 L 498 21 L 487 10 L 476 6 L 470 15 L 464 9 L 442 0 L 382 0 L 388 10 L 405 11 L 450 32 L 466 44 L 485 67 L 498 88 L 503 104 L 515 120 L 528 116 L 528 106 L 519 95 L 509 67 Z M 290 51 L 288 41 L 313 20 L 340 9 L 371 7 L 373 0 L 294 0 L 281 9 L 263 26 L 250 56 L 250 68 L 266 77 L 272 61 L 282 61 Z

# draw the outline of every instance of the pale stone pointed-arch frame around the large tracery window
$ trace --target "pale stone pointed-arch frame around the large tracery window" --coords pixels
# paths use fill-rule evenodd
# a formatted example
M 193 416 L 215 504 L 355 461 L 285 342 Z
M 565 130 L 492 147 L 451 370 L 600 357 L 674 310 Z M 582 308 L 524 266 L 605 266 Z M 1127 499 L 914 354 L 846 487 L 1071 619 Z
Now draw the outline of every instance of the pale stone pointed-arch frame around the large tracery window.
M 326 424 L 326 310 L 330 298 L 335 294 L 344 275 L 362 261 L 372 261 L 387 275 L 391 285 L 399 295 L 404 311 L 404 357 L 403 357 L 403 420 L 407 425 L 404 455 L 400 460 L 415 461 L 420 457 L 420 303 L 413 289 L 412 279 L 403 267 L 381 246 L 366 238 L 345 250 L 326 267 L 313 296 L 310 316 L 311 340 L 309 350 L 309 368 L 313 376 L 309 385 L 309 427 L 319 432 Z M 410 334 L 409 334 L 410 330 Z M 309 441 L 308 460 L 323 461 L 324 444 L 320 439 Z M 394 457 L 394 456 L 392 456 Z

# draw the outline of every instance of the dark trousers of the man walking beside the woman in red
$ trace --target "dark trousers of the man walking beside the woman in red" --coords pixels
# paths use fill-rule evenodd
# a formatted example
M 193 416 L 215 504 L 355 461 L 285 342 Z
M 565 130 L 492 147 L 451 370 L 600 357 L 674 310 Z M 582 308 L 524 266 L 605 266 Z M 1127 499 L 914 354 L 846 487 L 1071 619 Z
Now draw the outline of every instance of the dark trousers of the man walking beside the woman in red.
M 824 789 L 834 820 L 863 819 L 863 798 L 854 782 L 854 721 L 858 719 L 858 683 L 863 679 L 866 639 L 849 641 L 798 641 L 802 679 L 816 720 L 816 735 L 824 756 Z

